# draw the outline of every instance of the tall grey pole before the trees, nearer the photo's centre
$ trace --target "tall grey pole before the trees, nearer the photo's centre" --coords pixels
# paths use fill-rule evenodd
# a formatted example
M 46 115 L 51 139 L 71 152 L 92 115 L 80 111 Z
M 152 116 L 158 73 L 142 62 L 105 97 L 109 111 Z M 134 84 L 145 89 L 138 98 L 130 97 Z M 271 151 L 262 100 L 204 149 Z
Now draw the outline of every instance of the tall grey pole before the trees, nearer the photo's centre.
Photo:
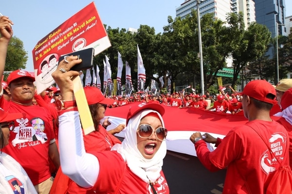
M 199 51 L 200 51 L 200 68 L 201 68 L 201 95 L 205 94 L 204 89 L 204 70 L 203 70 L 203 53 L 202 53 L 202 38 L 201 38 L 201 22 L 200 22 L 200 9 L 199 3 L 202 0 L 197 0 L 197 14 L 198 14 L 198 34 L 199 34 Z

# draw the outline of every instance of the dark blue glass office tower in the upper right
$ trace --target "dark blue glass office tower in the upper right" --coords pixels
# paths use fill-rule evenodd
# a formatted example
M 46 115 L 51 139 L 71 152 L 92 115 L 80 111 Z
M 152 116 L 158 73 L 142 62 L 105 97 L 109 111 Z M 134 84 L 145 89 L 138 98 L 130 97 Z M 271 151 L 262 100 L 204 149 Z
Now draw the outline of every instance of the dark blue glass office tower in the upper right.
M 272 32 L 272 37 L 286 35 L 285 28 L 285 0 L 255 0 L 256 3 L 256 22 L 267 26 Z M 273 58 L 275 54 L 272 47 L 267 55 Z

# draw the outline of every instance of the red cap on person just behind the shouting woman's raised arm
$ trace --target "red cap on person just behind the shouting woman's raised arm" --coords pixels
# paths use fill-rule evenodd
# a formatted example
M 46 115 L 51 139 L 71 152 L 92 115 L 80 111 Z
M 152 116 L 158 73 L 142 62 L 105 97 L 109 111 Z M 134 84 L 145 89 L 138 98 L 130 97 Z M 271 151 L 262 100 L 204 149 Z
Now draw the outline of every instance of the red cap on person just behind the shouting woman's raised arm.
M 88 105 L 96 103 L 111 105 L 114 103 L 113 99 L 105 97 L 97 87 L 85 86 L 83 89 Z

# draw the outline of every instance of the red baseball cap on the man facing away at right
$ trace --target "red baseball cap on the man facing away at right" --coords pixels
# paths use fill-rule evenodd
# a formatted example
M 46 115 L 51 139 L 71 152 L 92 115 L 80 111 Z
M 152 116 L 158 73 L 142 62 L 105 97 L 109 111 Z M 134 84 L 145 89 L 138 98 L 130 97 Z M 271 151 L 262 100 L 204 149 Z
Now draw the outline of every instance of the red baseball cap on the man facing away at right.
M 276 91 L 274 89 L 274 86 L 265 80 L 250 81 L 243 88 L 243 91 L 238 93 L 238 95 L 247 95 L 259 101 L 267 102 L 270 104 L 276 104 L 277 101 L 275 100 L 275 98 L 274 99 L 267 98 L 268 94 L 273 94 L 276 97 Z

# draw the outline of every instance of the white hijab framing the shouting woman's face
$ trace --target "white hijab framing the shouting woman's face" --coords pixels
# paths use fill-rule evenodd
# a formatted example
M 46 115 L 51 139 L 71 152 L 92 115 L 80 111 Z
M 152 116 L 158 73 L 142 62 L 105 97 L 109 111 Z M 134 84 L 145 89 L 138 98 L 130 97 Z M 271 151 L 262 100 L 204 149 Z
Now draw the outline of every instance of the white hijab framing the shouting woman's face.
M 125 129 L 125 139 L 122 144 L 116 144 L 111 148 L 111 150 L 117 150 L 117 152 L 120 153 L 127 162 L 130 170 L 146 183 L 149 183 L 148 178 L 152 182 L 155 182 L 156 179 L 160 177 L 163 159 L 166 155 L 165 140 L 161 143 L 160 148 L 152 159 L 145 159 L 137 148 L 136 131 L 140 125 L 141 119 L 148 113 L 157 113 L 162 122 L 162 126 L 164 127 L 164 122 L 160 113 L 150 109 L 145 109 L 136 113 L 129 119 L 127 128 Z

